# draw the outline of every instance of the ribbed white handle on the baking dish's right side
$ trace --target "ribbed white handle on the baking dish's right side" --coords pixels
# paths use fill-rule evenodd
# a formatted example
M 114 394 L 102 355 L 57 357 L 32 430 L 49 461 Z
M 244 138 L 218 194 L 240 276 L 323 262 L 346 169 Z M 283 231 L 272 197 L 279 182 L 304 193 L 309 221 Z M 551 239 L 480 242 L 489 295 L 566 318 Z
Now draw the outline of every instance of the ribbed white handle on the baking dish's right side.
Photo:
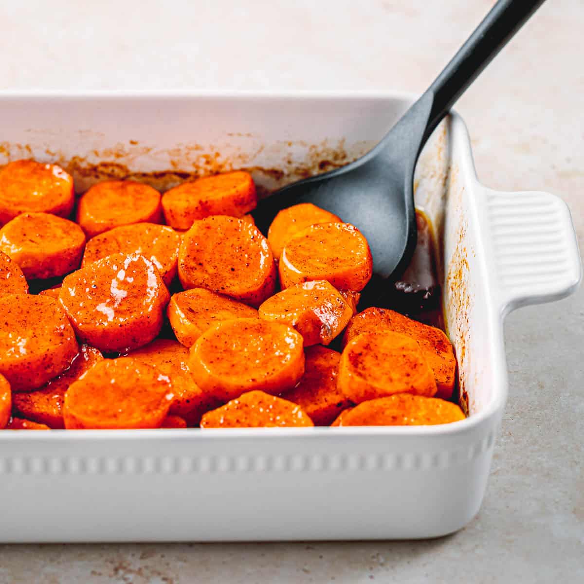
M 549 193 L 486 189 L 487 261 L 496 274 L 500 310 L 572 294 L 582 277 L 578 239 L 568 206 Z

